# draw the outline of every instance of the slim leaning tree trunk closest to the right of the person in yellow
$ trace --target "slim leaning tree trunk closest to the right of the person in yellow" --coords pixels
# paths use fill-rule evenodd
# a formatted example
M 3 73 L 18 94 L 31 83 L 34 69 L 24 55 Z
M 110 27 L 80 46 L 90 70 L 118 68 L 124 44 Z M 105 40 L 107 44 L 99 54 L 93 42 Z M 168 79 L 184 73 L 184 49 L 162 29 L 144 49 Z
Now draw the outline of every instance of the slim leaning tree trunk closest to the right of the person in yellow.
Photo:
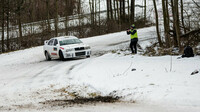
M 157 31 L 158 42 L 159 42 L 159 46 L 163 47 L 160 33 L 159 33 L 159 23 L 158 23 L 158 12 L 157 12 L 157 7 L 156 7 L 156 0 L 153 0 L 153 4 L 154 4 L 155 15 L 156 15 L 156 31 Z

